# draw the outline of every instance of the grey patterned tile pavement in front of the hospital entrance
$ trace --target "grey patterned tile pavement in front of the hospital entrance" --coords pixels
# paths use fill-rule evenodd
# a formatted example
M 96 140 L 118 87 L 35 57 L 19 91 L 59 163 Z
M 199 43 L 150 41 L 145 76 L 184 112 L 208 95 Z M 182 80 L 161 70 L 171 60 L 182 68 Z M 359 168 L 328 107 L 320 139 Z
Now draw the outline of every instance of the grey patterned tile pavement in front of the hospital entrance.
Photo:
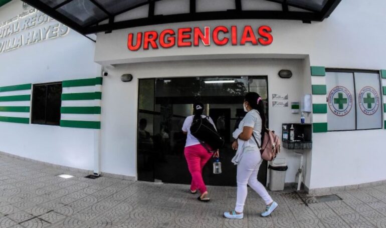
M 0 155 L 0 227 L 386 227 L 386 185 L 309 206 L 295 193 L 271 192 L 279 207 L 266 218 L 249 189 L 245 218 L 230 220 L 222 213 L 234 207 L 234 187 L 209 187 L 212 201 L 202 203 L 186 185 L 84 175 Z

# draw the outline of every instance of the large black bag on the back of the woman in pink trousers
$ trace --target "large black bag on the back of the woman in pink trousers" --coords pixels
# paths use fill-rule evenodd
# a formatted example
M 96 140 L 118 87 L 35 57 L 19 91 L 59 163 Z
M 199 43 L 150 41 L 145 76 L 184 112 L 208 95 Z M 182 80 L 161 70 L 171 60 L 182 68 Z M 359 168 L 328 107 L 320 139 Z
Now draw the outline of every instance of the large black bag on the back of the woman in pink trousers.
M 194 119 L 190 126 L 190 134 L 195 136 L 204 146 L 205 143 L 211 146 L 214 151 L 222 148 L 225 143 L 224 138 L 209 122 L 209 117 Z

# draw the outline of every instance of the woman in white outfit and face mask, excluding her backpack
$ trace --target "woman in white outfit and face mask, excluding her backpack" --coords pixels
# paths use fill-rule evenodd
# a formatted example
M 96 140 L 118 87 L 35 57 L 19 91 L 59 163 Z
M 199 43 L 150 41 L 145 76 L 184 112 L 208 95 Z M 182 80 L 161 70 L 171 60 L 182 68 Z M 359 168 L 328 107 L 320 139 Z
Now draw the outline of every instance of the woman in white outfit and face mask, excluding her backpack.
M 247 184 L 255 190 L 265 201 L 266 210 L 261 216 L 268 216 L 278 206 L 258 180 L 257 173 L 262 162 L 260 154 L 261 132 L 265 130 L 264 103 L 257 93 L 247 93 L 244 99 L 244 111 L 248 112 L 240 122 L 239 129 L 234 132 L 237 138 L 232 144 L 234 150 L 238 149 L 232 160 L 237 164 L 237 201 L 233 211 L 225 212 L 227 218 L 242 219 L 244 217 L 244 203 L 247 198 Z M 240 143 L 239 143 L 239 142 Z M 242 146 L 242 148 L 238 148 Z

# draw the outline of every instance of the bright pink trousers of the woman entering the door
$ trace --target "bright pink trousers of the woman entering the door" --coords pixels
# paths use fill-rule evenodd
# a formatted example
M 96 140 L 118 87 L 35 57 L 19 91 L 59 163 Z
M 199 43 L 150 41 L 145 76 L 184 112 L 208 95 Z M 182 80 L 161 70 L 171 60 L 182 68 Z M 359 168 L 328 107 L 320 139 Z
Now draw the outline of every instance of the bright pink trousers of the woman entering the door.
M 208 152 L 201 144 L 185 147 L 184 149 L 187 167 L 191 175 L 190 190 L 207 191 L 203 179 L 203 167 L 211 159 L 213 153 Z

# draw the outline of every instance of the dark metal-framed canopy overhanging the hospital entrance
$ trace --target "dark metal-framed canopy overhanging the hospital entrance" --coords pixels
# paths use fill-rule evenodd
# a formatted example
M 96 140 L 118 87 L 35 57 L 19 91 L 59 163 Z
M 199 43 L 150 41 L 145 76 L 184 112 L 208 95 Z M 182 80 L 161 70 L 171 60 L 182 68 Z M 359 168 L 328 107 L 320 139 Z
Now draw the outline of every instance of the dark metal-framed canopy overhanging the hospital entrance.
M 176 0 L 186 2 L 186 12 L 156 15 L 155 6 L 162 1 L 167 0 L 23 0 L 83 35 L 189 21 L 278 19 L 299 20 L 304 23 L 321 22 L 332 13 L 341 0 L 256 0 L 270 2 L 275 5 L 276 10 L 243 10 L 243 0 L 234 0 L 234 9 L 211 12 L 198 12 L 197 9 L 200 4 L 210 4 L 212 9 L 222 9 L 222 1 Z M 148 8 L 147 17 L 124 21 L 116 19 L 121 14 L 130 15 L 139 7 Z

